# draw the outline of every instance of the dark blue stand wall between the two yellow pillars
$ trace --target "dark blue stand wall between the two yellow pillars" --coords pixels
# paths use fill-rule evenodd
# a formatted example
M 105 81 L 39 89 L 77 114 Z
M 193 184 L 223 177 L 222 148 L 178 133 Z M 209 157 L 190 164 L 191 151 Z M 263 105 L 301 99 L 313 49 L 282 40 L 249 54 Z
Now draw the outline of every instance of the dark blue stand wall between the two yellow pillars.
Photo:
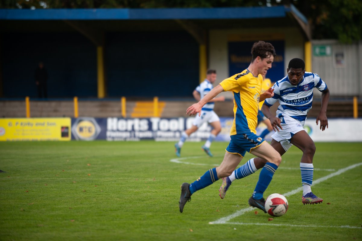
M 198 43 L 185 32 L 109 33 L 109 97 L 192 97 L 199 80 Z

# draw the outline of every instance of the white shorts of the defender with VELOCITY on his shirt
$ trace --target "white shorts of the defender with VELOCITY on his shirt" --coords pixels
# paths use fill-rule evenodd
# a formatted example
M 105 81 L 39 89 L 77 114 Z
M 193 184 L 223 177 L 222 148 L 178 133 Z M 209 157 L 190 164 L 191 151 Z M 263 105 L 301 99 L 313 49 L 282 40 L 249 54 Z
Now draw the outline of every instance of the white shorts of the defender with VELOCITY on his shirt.
M 280 115 L 281 114 L 279 114 L 279 116 Z M 283 129 L 280 130 L 280 128 L 278 128 L 280 131 L 276 131 L 271 136 L 271 138 L 273 138 L 277 142 L 280 142 L 284 150 L 287 151 L 293 145 L 290 143 L 290 139 L 292 138 L 292 136 L 295 133 L 304 130 L 303 126 L 305 121 L 299 121 L 289 116 L 281 116 L 279 118 L 282 118 L 282 122 L 280 123 L 280 125 Z

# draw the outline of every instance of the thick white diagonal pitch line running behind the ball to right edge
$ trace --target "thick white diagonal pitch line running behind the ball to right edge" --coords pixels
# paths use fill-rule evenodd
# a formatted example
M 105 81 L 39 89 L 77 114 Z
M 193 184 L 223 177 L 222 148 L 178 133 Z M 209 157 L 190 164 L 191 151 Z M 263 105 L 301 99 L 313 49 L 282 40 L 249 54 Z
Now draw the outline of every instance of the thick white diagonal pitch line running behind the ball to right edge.
M 313 181 L 313 184 L 318 184 L 318 183 L 321 183 L 329 178 L 332 178 L 333 176 L 337 176 L 337 175 L 340 175 L 342 173 L 344 173 L 345 171 L 348 171 L 350 169 L 353 169 L 355 167 L 358 167 L 358 166 L 361 166 L 362 165 L 362 162 L 360 163 L 357 163 L 357 164 L 354 164 L 354 165 L 351 165 L 351 166 L 348 166 L 346 168 L 343 168 L 343 169 L 340 169 L 338 171 L 336 171 L 335 173 L 331 173 L 327 176 L 324 176 L 322 178 L 319 178 L 315 181 Z M 290 192 L 287 192 L 285 194 L 283 194 L 283 196 L 287 197 L 287 196 L 291 196 L 293 194 L 296 194 L 297 192 L 299 191 L 302 191 L 303 190 L 303 187 L 299 187 L 299 188 L 296 188 Z M 241 216 L 243 215 L 245 212 L 249 212 L 249 211 L 252 211 L 253 209 L 255 209 L 254 207 L 248 207 L 248 208 L 243 208 L 227 217 L 222 217 L 221 219 L 218 219 L 216 221 L 213 221 L 213 222 L 210 222 L 209 224 L 226 224 L 228 221 L 230 221 L 231 219 L 234 219 L 235 217 L 238 217 L 238 216 Z

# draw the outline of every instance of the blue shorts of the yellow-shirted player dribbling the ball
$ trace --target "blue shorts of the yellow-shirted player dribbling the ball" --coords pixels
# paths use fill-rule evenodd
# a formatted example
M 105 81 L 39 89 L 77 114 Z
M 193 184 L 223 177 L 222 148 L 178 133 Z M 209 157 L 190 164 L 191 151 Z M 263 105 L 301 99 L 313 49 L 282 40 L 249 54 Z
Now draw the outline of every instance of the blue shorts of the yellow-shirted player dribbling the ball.
M 265 140 L 256 134 L 249 132 L 230 136 L 231 141 L 226 147 L 226 151 L 231 154 L 239 154 L 244 157 L 245 153 L 260 146 Z

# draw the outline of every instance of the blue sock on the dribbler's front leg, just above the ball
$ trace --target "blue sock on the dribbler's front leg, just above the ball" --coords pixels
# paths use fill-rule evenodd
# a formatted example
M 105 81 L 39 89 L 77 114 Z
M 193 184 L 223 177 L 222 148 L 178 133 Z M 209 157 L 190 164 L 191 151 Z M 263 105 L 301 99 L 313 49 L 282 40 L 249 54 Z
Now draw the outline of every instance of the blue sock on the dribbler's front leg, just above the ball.
M 263 197 L 263 194 L 266 188 L 269 186 L 271 179 L 273 179 L 273 175 L 277 170 L 278 166 L 274 163 L 267 162 L 263 169 L 260 171 L 259 180 L 256 184 L 255 190 L 253 192 L 253 198 L 256 200 L 260 200 Z

